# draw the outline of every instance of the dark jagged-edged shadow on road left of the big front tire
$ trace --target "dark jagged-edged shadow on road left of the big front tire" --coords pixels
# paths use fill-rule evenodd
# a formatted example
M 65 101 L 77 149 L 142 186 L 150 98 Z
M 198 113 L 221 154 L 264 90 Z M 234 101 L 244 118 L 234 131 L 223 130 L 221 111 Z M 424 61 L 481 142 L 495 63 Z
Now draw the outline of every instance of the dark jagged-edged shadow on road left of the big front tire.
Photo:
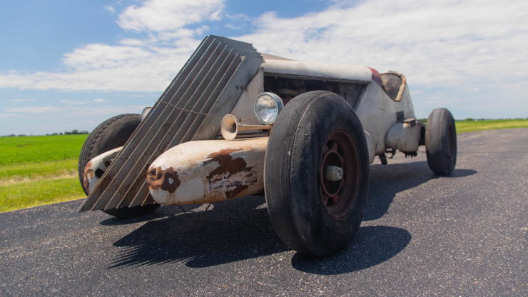
M 261 196 L 149 221 L 113 246 L 124 248 L 109 268 L 178 261 L 208 267 L 290 250 L 275 234 Z

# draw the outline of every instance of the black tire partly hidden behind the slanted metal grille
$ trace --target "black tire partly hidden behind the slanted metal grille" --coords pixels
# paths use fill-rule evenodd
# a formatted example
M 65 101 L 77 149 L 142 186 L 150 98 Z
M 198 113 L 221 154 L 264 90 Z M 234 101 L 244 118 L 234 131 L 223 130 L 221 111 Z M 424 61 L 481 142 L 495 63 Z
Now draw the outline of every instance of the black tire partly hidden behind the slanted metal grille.
M 84 193 L 88 195 L 88 189 L 83 185 L 83 171 L 86 163 L 101 153 L 110 151 L 113 148 L 123 146 L 133 134 L 134 130 L 141 122 L 139 114 L 121 114 L 103 121 L 102 124 L 93 129 L 92 133 L 84 141 L 81 154 L 78 158 L 78 177 Z M 131 218 L 151 213 L 159 204 L 149 204 L 146 206 L 135 206 L 132 208 L 119 208 L 104 211 L 111 216 L 119 218 Z

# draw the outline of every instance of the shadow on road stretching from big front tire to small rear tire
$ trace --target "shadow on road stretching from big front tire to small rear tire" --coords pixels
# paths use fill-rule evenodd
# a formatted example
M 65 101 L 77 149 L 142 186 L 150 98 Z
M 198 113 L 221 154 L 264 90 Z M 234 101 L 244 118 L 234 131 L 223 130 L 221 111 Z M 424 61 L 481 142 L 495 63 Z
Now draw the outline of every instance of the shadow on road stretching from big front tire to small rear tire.
M 370 194 L 363 221 L 381 218 L 389 210 L 397 193 L 415 188 L 435 178 L 460 178 L 477 173 L 472 169 L 458 169 L 451 176 L 435 176 L 426 161 L 375 164 L 370 166 Z

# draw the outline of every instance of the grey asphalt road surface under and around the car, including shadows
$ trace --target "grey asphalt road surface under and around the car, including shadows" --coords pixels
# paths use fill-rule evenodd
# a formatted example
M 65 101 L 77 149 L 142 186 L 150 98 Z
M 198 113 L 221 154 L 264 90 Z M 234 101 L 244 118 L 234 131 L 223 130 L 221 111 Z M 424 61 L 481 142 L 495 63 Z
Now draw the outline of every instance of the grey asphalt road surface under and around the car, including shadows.
M 262 197 L 0 213 L 0 296 L 528 296 L 527 151 L 528 129 L 482 131 L 459 136 L 451 177 L 425 153 L 372 165 L 365 221 L 328 258 L 284 246 Z

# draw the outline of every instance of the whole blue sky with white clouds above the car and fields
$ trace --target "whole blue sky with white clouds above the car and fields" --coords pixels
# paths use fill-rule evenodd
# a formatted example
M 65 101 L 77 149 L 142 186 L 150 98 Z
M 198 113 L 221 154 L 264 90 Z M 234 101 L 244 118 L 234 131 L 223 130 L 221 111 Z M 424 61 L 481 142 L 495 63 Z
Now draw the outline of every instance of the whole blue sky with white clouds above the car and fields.
M 397 3 L 395 3 L 397 2 Z M 0 135 L 91 131 L 150 106 L 203 36 L 407 76 L 417 117 L 528 116 L 528 2 L 3 1 Z

